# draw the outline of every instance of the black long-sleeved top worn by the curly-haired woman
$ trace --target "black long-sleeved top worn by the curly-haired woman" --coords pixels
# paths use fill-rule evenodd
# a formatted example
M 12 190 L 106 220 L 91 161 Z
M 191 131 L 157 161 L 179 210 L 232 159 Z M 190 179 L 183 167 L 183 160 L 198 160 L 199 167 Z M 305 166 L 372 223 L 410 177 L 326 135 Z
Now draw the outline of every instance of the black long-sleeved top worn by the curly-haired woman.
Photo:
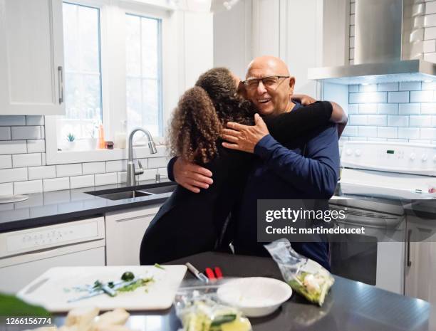
M 326 101 L 266 119 L 278 142 L 290 142 L 301 133 L 325 125 L 333 108 Z M 193 193 L 177 185 L 142 238 L 141 265 L 164 263 L 204 251 L 212 251 L 224 222 L 242 196 L 254 154 L 222 147 L 211 162 L 202 164 L 212 172 L 209 189 Z M 255 206 L 253 206 L 255 208 Z

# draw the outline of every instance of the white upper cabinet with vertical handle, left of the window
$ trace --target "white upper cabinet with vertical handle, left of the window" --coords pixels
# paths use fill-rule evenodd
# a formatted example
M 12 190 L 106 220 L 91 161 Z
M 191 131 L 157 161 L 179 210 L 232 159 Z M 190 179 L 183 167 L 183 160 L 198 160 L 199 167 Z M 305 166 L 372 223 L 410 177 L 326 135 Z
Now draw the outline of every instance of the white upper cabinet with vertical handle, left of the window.
M 0 0 L 0 115 L 63 115 L 61 0 Z

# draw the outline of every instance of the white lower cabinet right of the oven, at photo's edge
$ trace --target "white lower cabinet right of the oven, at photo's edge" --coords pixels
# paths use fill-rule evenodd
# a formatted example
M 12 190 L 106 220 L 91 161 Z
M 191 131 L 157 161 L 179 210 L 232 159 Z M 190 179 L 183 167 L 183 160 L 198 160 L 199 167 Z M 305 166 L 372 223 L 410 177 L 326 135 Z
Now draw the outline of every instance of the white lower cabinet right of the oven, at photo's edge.
M 436 304 L 436 221 L 408 216 L 405 295 Z

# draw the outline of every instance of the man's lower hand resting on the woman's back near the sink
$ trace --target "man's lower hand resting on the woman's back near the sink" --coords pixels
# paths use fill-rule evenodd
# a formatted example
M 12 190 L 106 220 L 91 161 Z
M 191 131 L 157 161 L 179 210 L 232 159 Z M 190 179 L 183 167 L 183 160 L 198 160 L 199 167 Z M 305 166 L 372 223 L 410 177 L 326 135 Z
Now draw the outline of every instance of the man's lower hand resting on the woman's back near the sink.
M 213 183 L 209 169 L 187 162 L 181 157 L 176 160 L 172 171 L 177 184 L 194 193 L 199 193 L 200 189 L 208 189 Z

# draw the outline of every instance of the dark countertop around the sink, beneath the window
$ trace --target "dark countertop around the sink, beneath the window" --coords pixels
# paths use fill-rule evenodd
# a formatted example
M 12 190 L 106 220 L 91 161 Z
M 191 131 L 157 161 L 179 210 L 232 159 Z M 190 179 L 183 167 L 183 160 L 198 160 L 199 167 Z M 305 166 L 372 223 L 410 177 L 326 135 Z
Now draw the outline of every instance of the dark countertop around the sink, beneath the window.
M 155 181 L 138 183 L 147 184 L 155 184 Z M 0 204 L 0 233 L 103 215 L 108 211 L 160 204 L 171 195 L 163 193 L 115 201 L 85 193 L 120 187 L 125 187 L 125 183 L 28 194 L 26 201 Z

